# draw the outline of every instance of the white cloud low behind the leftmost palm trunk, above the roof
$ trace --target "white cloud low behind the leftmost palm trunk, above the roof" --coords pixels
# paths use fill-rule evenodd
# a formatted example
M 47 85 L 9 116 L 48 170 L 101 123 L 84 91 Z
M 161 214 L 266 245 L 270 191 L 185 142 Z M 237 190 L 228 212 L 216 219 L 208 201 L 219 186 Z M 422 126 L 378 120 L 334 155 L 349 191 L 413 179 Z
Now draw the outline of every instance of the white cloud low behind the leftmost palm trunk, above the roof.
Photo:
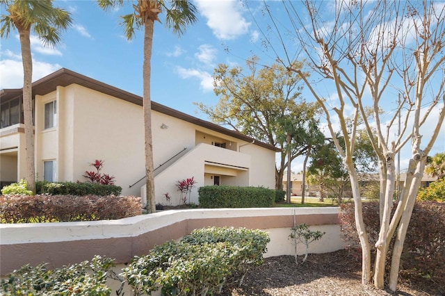
M 22 57 L 13 54 L 11 51 L 5 51 L 2 55 L 10 57 L 6 60 L 0 60 L 0 89 L 4 88 L 22 88 L 23 87 L 23 65 Z M 49 64 L 33 60 L 33 81 L 41 79 L 48 74 L 60 69 L 58 64 Z

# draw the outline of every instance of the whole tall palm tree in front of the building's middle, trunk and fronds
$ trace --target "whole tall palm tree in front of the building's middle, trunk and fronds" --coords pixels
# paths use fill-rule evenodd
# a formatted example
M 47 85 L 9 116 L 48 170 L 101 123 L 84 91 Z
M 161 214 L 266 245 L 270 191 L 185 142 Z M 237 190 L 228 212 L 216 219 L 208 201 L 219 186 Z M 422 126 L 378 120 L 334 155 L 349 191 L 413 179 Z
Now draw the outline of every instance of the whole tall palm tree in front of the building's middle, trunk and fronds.
M 147 210 L 156 211 L 154 198 L 154 165 L 152 147 L 152 103 L 150 99 L 150 74 L 154 22 L 159 21 L 158 15 L 165 10 L 165 25 L 172 28 L 173 33 L 181 35 L 186 26 L 196 22 L 197 9 L 188 0 L 133 0 L 134 12 L 122 15 L 122 25 L 128 40 L 133 39 L 136 29 L 144 30 L 144 61 L 143 61 L 143 114 L 145 138 L 145 176 L 147 179 Z M 116 6 L 123 6 L 123 0 L 97 0 L 104 10 L 111 10 Z M 167 3 L 170 6 L 167 6 Z

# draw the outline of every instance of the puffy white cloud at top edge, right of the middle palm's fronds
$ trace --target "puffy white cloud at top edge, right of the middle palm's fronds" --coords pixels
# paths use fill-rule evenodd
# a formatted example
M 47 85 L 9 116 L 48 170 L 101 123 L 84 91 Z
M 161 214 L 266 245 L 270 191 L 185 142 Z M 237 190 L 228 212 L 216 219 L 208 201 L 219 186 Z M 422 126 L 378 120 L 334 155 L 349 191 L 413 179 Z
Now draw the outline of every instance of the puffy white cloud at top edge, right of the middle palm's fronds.
M 243 6 L 239 1 L 195 0 L 195 3 L 218 39 L 230 40 L 248 33 L 250 22 L 241 15 Z

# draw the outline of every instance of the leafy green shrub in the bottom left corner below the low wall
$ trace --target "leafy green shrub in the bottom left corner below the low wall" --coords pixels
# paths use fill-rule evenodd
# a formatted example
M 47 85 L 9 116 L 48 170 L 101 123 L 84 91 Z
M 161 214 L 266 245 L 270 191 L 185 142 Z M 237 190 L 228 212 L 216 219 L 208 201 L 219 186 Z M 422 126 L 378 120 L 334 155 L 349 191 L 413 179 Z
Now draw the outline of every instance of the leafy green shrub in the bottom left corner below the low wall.
M 24 265 L 1 279 L 1 295 L 111 295 L 106 278 L 113 259 L 95 256 L 92 261 L 47 270 L 42 263 Z

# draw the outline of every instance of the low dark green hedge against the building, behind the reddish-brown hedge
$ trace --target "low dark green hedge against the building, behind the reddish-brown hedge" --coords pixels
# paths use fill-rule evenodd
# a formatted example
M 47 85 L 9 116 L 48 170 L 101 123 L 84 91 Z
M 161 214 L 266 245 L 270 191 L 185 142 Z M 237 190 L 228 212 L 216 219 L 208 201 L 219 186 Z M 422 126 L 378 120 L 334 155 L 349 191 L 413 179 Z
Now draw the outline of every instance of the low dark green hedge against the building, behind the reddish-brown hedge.
M 103 185 L 89 182 L 35 182 L 35 192 L 38 195 L 120 195 L 122 188 L 115 185 Z

